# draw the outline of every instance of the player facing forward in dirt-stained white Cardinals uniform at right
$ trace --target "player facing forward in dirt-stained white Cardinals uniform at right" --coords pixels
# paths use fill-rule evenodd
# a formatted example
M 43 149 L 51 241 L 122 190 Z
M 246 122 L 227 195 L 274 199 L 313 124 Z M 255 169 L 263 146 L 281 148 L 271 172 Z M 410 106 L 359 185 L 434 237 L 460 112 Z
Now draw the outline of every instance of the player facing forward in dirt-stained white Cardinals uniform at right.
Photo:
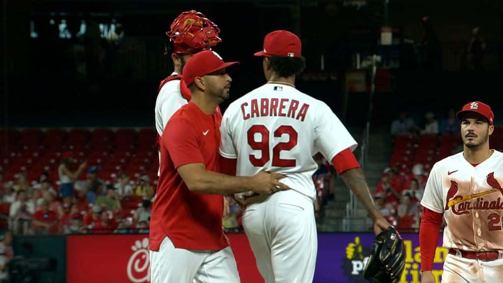
M 463 152 L 435 163 L 421 201 L 421 281 L 436 282 L 431 270 L 444 219 L 443 246 L 449 253 L 442 282 L 500 282 L 503 155 L 489 149 L 494 114 L 475 101 L 456 117 L 461 120 Z

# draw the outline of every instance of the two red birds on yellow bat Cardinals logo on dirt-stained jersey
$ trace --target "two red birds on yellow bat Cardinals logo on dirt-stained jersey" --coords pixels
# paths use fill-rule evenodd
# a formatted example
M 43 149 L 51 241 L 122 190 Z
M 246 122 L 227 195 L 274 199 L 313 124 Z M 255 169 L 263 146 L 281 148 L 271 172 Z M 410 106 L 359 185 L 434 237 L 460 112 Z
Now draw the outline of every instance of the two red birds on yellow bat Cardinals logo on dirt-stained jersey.
M 468 210 L 485 210 L 485 209 L 503 209 L 503 201 L 498 197 L 497 200 L 484 200 L 482 196 L 494 192 L 499 192 L 503 195 L 503 187 L 499 184 L 498 180 L 494 178 L 494 172 L 487 174 L 486 182 L 492 188 L 490 190 L 482 191 L 479 193 L 469 195 L 456 195 L 458 192 L 458 183 L 451 180 L 451 186 L 447 191 L 445 210 L 451 209 L 455 215 L 467 214 Z M 467 200 L 474 199 L 472 202 Z M 459 204 L 459 205 L 458 205 Z

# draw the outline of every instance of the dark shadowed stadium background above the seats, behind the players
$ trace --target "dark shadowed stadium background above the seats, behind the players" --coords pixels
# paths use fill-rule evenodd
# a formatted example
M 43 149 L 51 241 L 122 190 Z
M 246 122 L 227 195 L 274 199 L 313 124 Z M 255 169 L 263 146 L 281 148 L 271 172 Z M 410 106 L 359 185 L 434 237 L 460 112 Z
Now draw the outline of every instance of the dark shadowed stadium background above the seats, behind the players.
M 221 29 L 223 42 L 214 50 L 226 60 L 241 62 L 230 70 L 231 100 L 265 82 L 261 59 L 253 53 L 262 48 L 265 34 L 288 29 L 303 41 L 306 74 L 320 72 L 321 55 L 323 72 L 335 74 L 327 80 L 299 78 L 298 88 L 325 101 L 347 124 L 361 125 L 367 119 L 369 96 L 350 93 L 346 100 L 344 74 L 356 52 L 378 51 L 379 31 L 386 20 L 383 3 L 4 0 L 2 48 L 7 76 L 0 122 L 3 126 L 153 126 L 159 81 L 171 73 L 170 58 L 162 55 L 164 33 L 178 14 L 194 9 Z M 358 4 L 364 5 L 357 8 Z M 501 11 L 500 1 L 390 1 L 389 24 L 408 43 L 400 48 L 401 67 L 390 72 L 393 90 L 374 97 L 373 123 L 389 124 L 401 109 L 444 113 L 471 100 L 495 104 L 502 69 Z M 105 24 L 114 18 L 125 30 L 118 44 L 102 39 L 88 45 L 88 52 L 94 47 L 101 59 L 96 76 L 79 71 L 86 61 L 86 42 L 75 33 L 86 15 Z M 423 72 L 416 64 L 425 15 L 431 17 L 442 44 L 443 69 L 435 74 Z M 73 37 L 56 38 L 51 19 L 56 23 L 65 19 Z M 30 37 L 30 22 L 37 38 Z M 465 63 L 475 26 L 481 27 L 487 41 L 486 70 L 481 73 L 470 72 Z

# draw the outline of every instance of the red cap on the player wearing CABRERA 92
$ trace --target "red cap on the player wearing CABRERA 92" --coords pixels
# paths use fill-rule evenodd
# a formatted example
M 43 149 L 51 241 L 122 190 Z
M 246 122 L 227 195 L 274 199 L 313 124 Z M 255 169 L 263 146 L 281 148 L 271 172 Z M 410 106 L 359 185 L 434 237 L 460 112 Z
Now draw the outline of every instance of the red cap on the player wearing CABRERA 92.
M 300 38 L 286 30 L 270 32 L 264 38 L 264 49 L 256 52 L 255 56 L 300 57 L 302 43 Z

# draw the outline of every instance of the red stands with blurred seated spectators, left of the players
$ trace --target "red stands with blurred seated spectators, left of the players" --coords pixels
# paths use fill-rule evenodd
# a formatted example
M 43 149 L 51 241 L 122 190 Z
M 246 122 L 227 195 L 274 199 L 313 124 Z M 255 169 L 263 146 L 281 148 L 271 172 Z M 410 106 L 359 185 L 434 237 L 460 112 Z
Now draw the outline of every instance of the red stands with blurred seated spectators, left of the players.
M 158 154 L 153 129 L 0 129 L 0 226 L 16 235 L 148 233 Z M 313 176 L 316 217 L 333 198 L 321 155 Z M 223 226 L 241 232 L 228 197 Z

